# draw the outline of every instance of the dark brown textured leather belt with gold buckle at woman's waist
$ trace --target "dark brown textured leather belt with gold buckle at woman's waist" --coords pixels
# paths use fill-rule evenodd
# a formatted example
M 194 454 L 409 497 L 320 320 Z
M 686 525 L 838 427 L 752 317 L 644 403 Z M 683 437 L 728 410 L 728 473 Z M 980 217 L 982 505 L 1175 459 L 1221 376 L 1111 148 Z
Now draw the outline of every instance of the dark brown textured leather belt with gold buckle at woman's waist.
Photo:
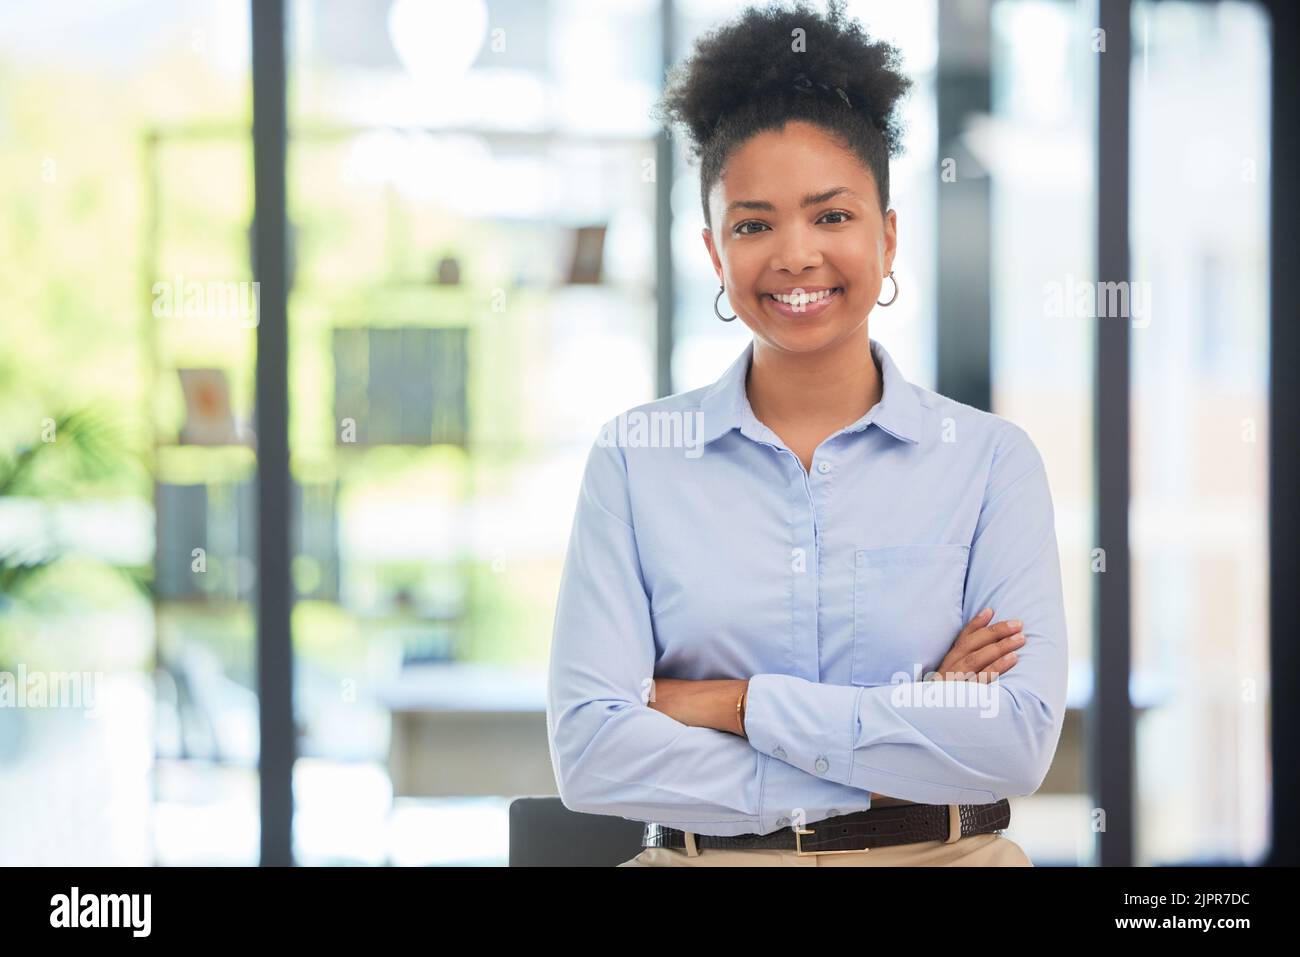
M 1004 797 L 993 804 L 892 804 L 853 814 L 815 820 L 796 830 L 771 833 L 711 835 L 646 824 L 642 848 L 720 848 L 728 850 L 793 850 L 797 854 L 850 854 L 916 841 L 952 844 L 972 833 L 997 833 L 1011 823 L 1011 805 Z M 690 833 L 690 839 L 688 839 Z

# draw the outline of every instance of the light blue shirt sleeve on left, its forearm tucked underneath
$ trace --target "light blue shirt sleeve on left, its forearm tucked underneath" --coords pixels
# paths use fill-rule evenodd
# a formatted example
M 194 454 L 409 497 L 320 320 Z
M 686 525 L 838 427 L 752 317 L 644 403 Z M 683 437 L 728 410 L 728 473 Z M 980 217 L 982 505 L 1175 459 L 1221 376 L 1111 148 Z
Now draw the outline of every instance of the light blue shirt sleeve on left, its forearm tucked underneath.
M 699 833 L 758 831 L 767 759 L 738 735 L 690 727 L 650 707 L 655 658 L 627 456 L 597 439 L 550 651 L 546 723 L 560 800 L 575 811 Z

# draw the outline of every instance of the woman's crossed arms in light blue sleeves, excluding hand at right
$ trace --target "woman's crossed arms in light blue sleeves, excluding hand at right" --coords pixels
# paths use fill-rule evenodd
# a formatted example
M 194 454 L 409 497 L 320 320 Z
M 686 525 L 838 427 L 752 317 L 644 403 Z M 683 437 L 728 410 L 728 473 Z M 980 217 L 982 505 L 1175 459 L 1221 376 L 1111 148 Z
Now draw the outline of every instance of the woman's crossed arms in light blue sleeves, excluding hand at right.
M 1067 657 L 1052 502 L 1027 439 L 994 471 L 972 538 L 963 619 L 982 607 L 1022 618 L 1027 638 L 997 683 L 993 720 L 975 707 L 900 702 L 889 685 L 658 677 L 625 460 L 616 447 L 594 447 L 551 649 L 547 723 L 560 796 L 573 810 L 745 833 L 771 831 L 816 788 L 835 806 L 844 806 L 836 785 L 926 804 L 1032 793 L 1060 737 Z M 768 774 L 774 761 L 807 774 Z

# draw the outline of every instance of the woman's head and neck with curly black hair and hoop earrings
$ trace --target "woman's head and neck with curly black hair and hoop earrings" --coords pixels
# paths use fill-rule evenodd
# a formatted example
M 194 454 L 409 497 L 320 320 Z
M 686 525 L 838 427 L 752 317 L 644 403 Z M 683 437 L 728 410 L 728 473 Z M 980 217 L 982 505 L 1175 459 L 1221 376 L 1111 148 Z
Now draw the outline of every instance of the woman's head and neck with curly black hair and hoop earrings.
M 805 468 L 879 399 L 866 322 L 893 282 L 889 157 L 910 87 L 842 4 L 771 5 L 701 38 L 656 109 L 699 161 L 703 241 L 736 309 L 718 315 L 754 333 L 754 411 Z

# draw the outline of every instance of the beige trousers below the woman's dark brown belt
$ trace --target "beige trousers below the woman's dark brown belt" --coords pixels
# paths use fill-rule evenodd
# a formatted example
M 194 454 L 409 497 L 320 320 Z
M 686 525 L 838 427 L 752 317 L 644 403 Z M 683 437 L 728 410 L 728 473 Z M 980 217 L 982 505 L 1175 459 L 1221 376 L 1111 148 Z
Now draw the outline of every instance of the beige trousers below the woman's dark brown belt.
M 913 804 L 872 794 L 871 805 Z M 694 835 L 688 832 L 688 844 Z M 800 856 L 794 850 L 701 848 L 694 854 L 676 848 L 646 848 L 619 867 L 1032 867 L 1020 846 L 1000 833 L 972 833 L 948 844 L 916 841 L 868 848 L 849 854 Z

